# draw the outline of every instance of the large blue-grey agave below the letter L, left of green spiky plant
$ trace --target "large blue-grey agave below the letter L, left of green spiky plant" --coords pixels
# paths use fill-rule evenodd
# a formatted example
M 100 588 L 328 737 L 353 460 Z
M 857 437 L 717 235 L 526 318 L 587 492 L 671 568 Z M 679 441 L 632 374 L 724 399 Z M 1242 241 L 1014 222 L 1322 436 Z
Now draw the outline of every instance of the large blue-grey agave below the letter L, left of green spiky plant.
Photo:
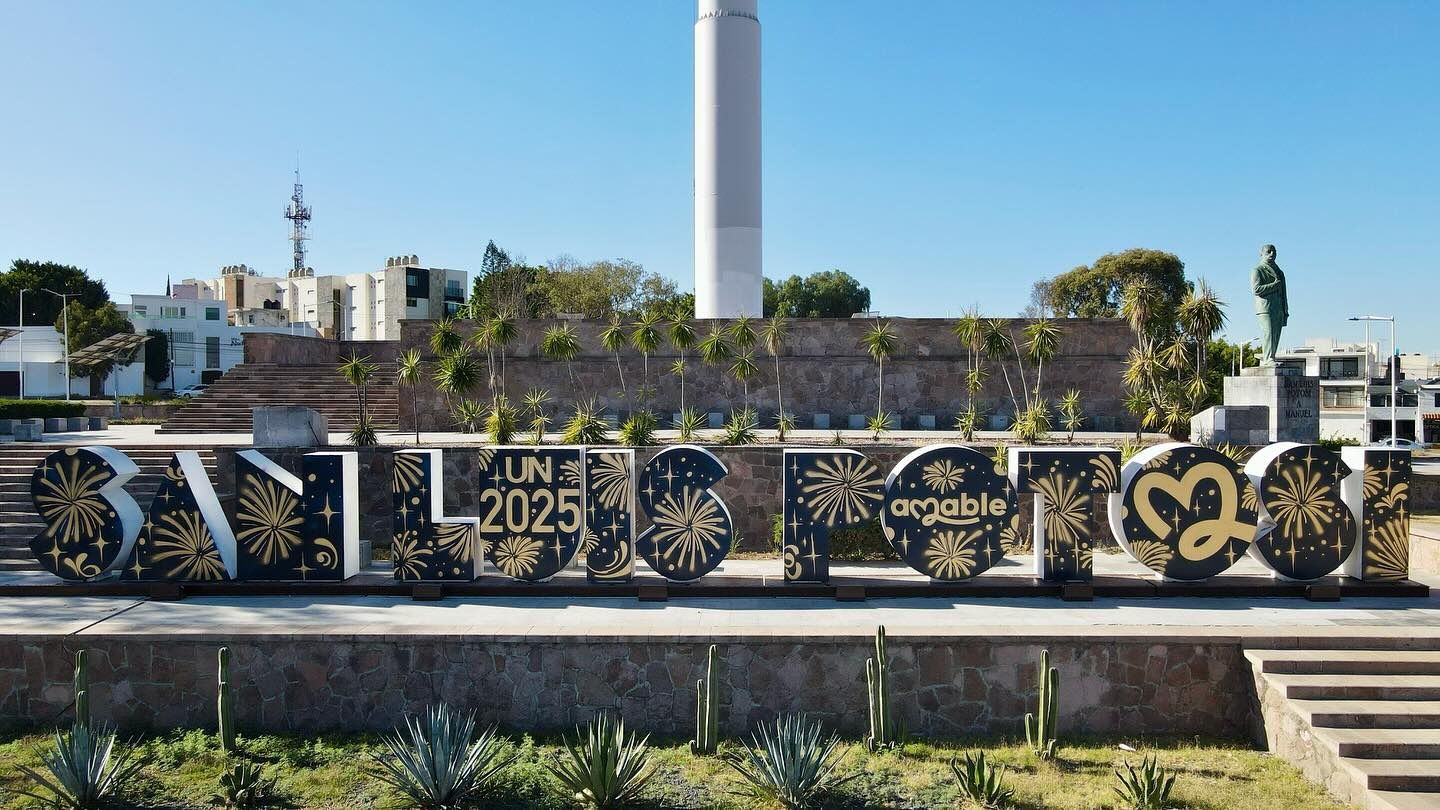
M 491 726 L 475 738 L 474 712 L 441 703 L 412 715 L 383 738 L 370 773 L 412 807 L 456 810 L 471 806 L 516 755 L 503 755 Z

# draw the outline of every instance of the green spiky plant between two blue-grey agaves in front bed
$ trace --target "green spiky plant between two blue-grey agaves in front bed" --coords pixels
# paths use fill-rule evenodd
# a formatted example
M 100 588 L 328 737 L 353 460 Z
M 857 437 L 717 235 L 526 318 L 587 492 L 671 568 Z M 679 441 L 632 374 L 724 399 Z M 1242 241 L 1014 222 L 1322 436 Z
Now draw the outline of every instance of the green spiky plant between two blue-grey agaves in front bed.
M 625 721 L 602 713 L 583 729 L 576 726 L 575 742 L 564 738 L 564 754 L 554 764 L 554 775 L 564 793 L 585 807 L 624 807 L 635 801 L 655 771 L 649 768 L 649 736 L 625 732 Z

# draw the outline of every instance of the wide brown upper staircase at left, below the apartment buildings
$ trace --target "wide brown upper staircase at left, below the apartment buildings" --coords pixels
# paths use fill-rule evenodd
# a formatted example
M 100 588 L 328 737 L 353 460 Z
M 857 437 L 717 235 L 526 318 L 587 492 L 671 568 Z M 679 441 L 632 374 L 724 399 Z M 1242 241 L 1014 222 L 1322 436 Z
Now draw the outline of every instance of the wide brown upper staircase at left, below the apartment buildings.
M 379 363 L 367 388 L 370 417 L 377 430 L 396 430 L 400 422 L 395 363 Z M 356 421 L 356 391 L 334 365 L 279 366 L 240 363 L 200 396 L 192 399 L 157 432 L 251 432 L 251 408 L 256 405 L 304 405 L 330 419 L 331 431 L 348 431 Z

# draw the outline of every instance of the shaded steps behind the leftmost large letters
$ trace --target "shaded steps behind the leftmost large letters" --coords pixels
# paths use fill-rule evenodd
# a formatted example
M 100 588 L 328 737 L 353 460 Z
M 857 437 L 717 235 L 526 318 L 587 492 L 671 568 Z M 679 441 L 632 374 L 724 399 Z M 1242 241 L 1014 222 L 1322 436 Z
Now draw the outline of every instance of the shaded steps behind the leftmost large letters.
M 30 539 L 45 528 L 30 500 L 30 474 L 58 445 L 0 447 L 0 571 L 39 571 L 30 555 Z M 141 510 L 150 509 L 174 448 L 130 445 L 122 448 L 138 467 L 140 474 L 125 484 Z M 200 450 L 200 461 L 216 480 L 216 460 L 209 450 Z

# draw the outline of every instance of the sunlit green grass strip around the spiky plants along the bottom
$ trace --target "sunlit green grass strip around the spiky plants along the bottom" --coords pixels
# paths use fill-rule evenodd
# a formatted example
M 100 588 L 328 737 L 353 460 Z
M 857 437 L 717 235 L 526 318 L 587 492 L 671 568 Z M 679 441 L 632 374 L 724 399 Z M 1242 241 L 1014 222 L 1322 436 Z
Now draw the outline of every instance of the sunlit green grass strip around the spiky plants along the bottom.
M 1117 748 L 1128 742 L 1139 754 Z M 36 767 L 37 752 L 49 744 L 43 734 L 0 735 L 0 806 L 39 807 L 16 797 L 10 788 L 22 784 L 19 765 Z M 513 738 L 518 760 L 505 771 L 503 784 L 487 809 L 570 807 L 556 794 L 550 762 L 560 754 L 557 738 Z M 215 735 L 199 731 L 173 732 L 141 741 L 148 762 L 124 796 L 125 807 L 199 809 L 213 807 L 225 754 Z M 721 752 L 737 744 L 721 744 Z M 842 771 L 861 775 L 828 797 L 825 807 L 860 809 L 950 809 L 960 807 L 949 760 L 969 747 L 985 748 L 994 761 L 1007 765 L 1020 809 L 1116 807 L 1115 768 L 1126 760 L 1139 762 L 1156 754 L 1164 767 L 1179 771 L 1175 807 L 1228 810 L 1335 810 L 1344 804 L 1305 781 L 1284 762 L 1244 745 L 1192 739 L 1086 739 L 1064 745 L 1057 762 L 1044 762 L 1024 745 L 1012 742 L 946 744 L 912 742 L 899 751 L 871 755 L 851 745 Z M 380 749 L 376 735 L 252 736 L 242 739 L 246 757 L 265 765 L 278 783 L 284 807 L 364 809 L 402 804 L 377 780 L 366 774 L 370 754 Z M 684 742 L 658 741 L 652 748 L 657 778 L 647 791 L 645 807 L 753 807 L 747 797 L 734 796 L 739 777 L 717 757 L 693 757 Z

